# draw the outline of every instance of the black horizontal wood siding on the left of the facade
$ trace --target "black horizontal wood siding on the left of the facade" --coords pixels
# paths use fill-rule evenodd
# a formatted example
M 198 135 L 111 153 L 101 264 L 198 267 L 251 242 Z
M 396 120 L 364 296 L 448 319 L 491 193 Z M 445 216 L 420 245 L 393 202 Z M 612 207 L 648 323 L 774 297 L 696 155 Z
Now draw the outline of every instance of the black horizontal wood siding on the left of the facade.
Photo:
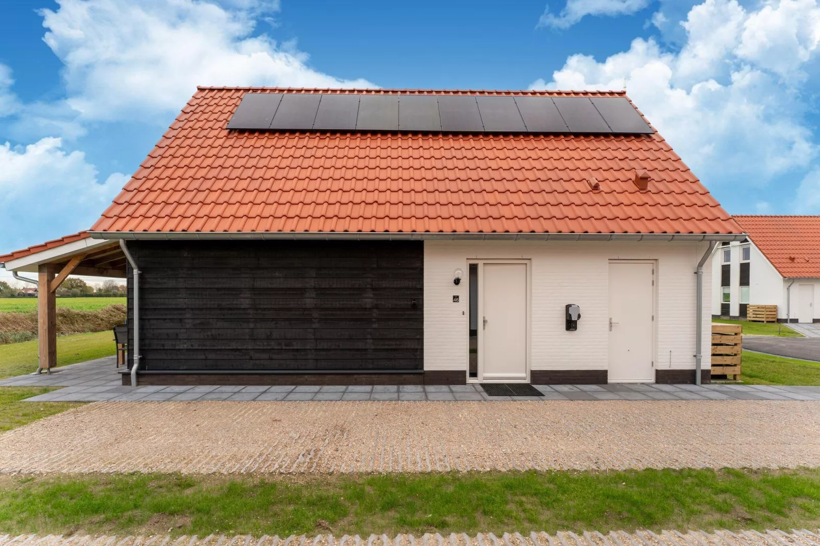
M 129 248 L 142 271 L 146 370 L 423 369 L 421 242 L 133 241 Z

